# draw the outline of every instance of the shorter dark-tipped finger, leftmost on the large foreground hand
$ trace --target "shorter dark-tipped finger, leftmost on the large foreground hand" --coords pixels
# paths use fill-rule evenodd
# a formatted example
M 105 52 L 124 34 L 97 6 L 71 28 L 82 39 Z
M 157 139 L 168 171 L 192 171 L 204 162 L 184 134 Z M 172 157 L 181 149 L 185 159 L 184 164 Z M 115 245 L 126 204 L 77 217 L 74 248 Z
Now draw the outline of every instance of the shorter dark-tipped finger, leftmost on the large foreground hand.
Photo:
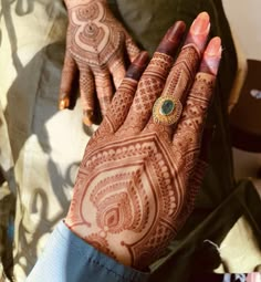
M 140 52 L 128 67 L 125 79 L 113 97 L 109 111 L 107 111 L 100 126 L 102 132 L 103 127 L 106 127 L 106 132 L 115 133 L 124 123 L 129 107 L 133 104 L 138 80 L 148 64 L 148 59 L 147 52 Z

